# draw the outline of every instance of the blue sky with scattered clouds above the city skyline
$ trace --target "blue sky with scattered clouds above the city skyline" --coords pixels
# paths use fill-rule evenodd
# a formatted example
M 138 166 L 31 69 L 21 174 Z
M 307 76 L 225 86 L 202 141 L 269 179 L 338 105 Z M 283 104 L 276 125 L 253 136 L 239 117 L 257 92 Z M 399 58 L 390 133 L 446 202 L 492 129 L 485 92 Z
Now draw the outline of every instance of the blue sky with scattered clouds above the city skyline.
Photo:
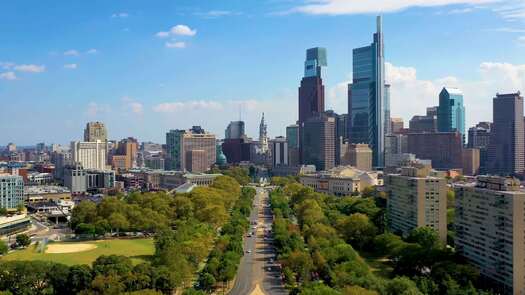
M 347 112 L 352 49 L 383 15 L 392 117 L 464 92 L 466 125 L 525 92 L 523 0 L 0 1 L 0 145 L 67 144 L 89 121 L 163 143 L 241 118 L 257 137 L 297 120 L 305 51 L 325 47 L 326 109 Z

